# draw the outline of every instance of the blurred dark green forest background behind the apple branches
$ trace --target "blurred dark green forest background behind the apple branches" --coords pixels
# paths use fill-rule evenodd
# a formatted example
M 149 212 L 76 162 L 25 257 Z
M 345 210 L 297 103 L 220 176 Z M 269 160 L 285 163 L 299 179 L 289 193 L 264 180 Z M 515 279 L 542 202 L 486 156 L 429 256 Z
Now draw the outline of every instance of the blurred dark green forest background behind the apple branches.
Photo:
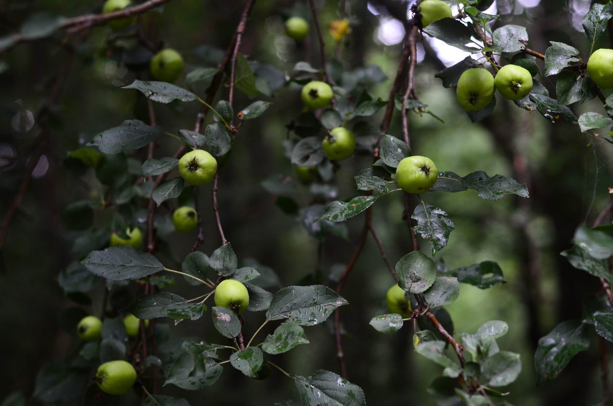
M 341 65 L 347 70 L 366 64 L 379 65 L 388 79 L 372 88 L 371 94 L 387 99 L 402 52 L 402 25 L 394 22 L 390 10 L 402 9 L 402 3 L 347 1 L 352 33 L 338 50 L 326 30 L 330 21 L 339 18 L 338 2 L 315 3 L 329 60 L 333 55 L 340 55 Z M 530 48 L 543 53 L 549 41 L 566 42 L 587 59 L 589 48 L 581 33 L 581 19 L 589 1 L 502 0 L 496 3 L 503 15 L 497 26 L 527 26 Z M 196 67 L 215 67 L 219 52 L 229 44 L 244 4 L 244 1 L 171 1 L 149 12 L 143 25 L 151 42 L 164 42 L 181 52 L 186 72 Z M 73 17 L 98 12 L 100 7 L 101 2 L 94 0 L 0 2 L 0 35 L 17 31 L 22 21 L 43 10 Z M 243 38 L 243 55 L 251 61 L 270 64 L 285 75 L 292 74 L 292 67 L 305 58 L 305 52 L 310 53 L 313 66 L 319 66 L 316 37 L 312 32 L 310 45 L 297 46 L 284 36 L 283 20 L 291 15 L 310 19 L 308 2 L 257 1 Z M 51 107 L 44 126 L 40 126 L 34 118 L 53 92 L 53 83 L 68 55 L 66 47 L 74 45 L 80 36 L 83 36 L 82 43 L 67 72 L 59 101 Z M 140 93 L 120 88 L 142 73 L 116 61 L 116 49 L 109 47 L 112 36 L 109 28 L 101 26 L 85 35 L 58 34 L 51 39 L 19 44 L 1 55 L 2 218 L 17 196 L 29 159 L 37 153 L 42 158 L 1 247 L 0 399 L 14 391 L 29 397 L 37 370 L 47 362 L 74 354 L 80 346 L 74 333 L 75 324 L 66 316 L 67 310 L 79 305 L 64 297 L 57 283 L 60 270 L 78 259 L 70 254 L 77 233 L 64 228 L 60 219 L 70 202 L 95 196 L 92 193 L 96 191 L 96 182 L 92 173 L 79 175 L 67 169 L 63 159 L 66 151 L 82 146 L 97 133 L 123 120 L 148 121 Z M 527 183 L 531 196 L 530 199 L 507 196 L 497 202 L 482 201 L 474 191 L 433 192 L 425 196 L 427 202 L 446 210 L 455 223 L 447 247 L 436 253 L 435 259 L 443 259 L 450 268 L 496 261 L 507 281 L 485 291 L 462 285 L 459 300 L 447 307 L 455 331 L 472 333 L 488 320 L 504 320 L 509 324 L 509 333 L 500 339 L 500 347 L 522 356 L 519 380 L 508 388 L 510 403 L 597 404 L 601 399 L 597 337 L 593 337 L 590 351 L 576 356 L 557 380 L 540 386 L 536 385 L 533 353 L 538 338 L 557 323 L 580 319 L 582 301 L 598 293 L 600 288 L 598 280 L 570 267 L 559 253 L 571 247 L 574 229 L 584 222 L 591 224 L 608 202 L 607 186 L 611 186 L 613 166 L 611 146 L 581 134 L 576 125 L 550 123 L 538 112 L 517 109 L 501 98 L 492 116 L 481 123 L 471 123 L 455 102 L 454 90 L 443 88 L 440 80 L 433 77 L 443 67 L 443 61 L 450 64 L 454 58 L 457 62 L 464 56 L 427 38 L 423 43 L 419 45 L 416 91 L 444 123 L 430 115 L 411 115 L 413 152 L 432 158 L 439 170 L 460 175 L 485 170 L 489 175 L 514 177 L 520 183 Z M 600 46 L 611 45 L 603 42 Z M 539 67 L 543 68 L 540 61 Z M 185 75 L 177 84 L 185 85 Z M 543 85 L 555 94 L 552 83 L 545 79 Z M 194 92 L 199 95 L 204 95 L 205 89 L 202 84 L 194 85 Z M 218 99 L 227 98 L 227 91 L 227 86 L 222 86 Z M 318 251 L 318 242 L 300 222 L 284 215 L 275 205 L 275 196 L 261 186 L 263 180 L 276 174 L 295 178 L 284 156 L 283 141 L 287 137 L 286 125 L 302 110 L 299 91 L 300 86 L 294 83 L 284 85 L 274 97 L 257 96 L 273 105 L 262 117 L 243 124 L 219 184 L 221 220 L 239 260 L 254 258 L 271 267 L 283 286 L 313 274 Z M 250 102 L 238 93 L 235 110 Z M 571 108 L 577 115 L 601 110 L 597 100 Z M 177 132 L 193 128 L 200 105 L 173 102 L 156 104 L 154 109 L 158 124 Z M 382 118 L 380 112 L 370 120 L 378 126 Z M 208 117 L 207 123 L 211 120 Z M 400 136 L 399 116 L 394 117 L 389 134 Z M 165 139 L 156 150 L 156 157 L 171 156 L 178 146 L 175 140 Z M 357 194 L 352 178 L 370 164 L 368 155 L 357 155 L 341 163 L 333 181 L 338 186 L 338 197 L 344 199 Z M 309 202 L 307 192 L 304 187 L 300 190 L 301 205 Z M 220 241 L 208 188 L 200 198 L 207 231 L 202 250 L 210 254 Z M 400 194 L 381 199 L 374 210 L 376 230 L 392 263 L 410 249 L 402 210 Z M 160 211 L 169 213 L 163 208 Z M 322 261 L 326 271 L 344 266 L 352 255 L 362 220 L 355 218 L 347 226 L 349 240 L 326 238 Z M 176 236 L 176 233 L 162 239 L 172 247 L 168 258 L 179 261 L 189 253 L 193 241 L 192 236 Z M 425 242 L 422 250 L 429 253 Z M 346 331 L 343 345 L 348 378 L 364 389 L 367 402 L 372 405 L 433 405 L 427 386 L 440 375 L 440 367 L 414 354 L 409 326 L 397 334 L 383 335 L 368 325 L 373 316 L 383 312 L 384 296 L 392 283 L 376 245 L 369 239 L 343 291 L 350 305 L 340 310 Z M 184 283 L 174 289 L 186 297 L 199 294 L 196 288 Z M 83 310 L 100 312 L 103 294 L 103 287 L 99 286 L 92 293 L 93 308 L 85 305 L 81 306 Z M 251 313 L 246 331 L 253 332 L 262 320 L 262 315 Z M 274 362 L 299 375 L 310 375 L 316 369 L 338 372 L 331 328 L 326 323 L 307 329 L 310 345 L 277 356 Z M 209 342 L 224 342 L 211 326 L 208 313 L 200 320 L 178 324 L 172 329 L 172 335 L 194 335 L 206 337 Z M 192 405 L 205 402 L 270 405 L 297 399 L 292 381 L 281 373 L 273 373 L 267 381 L 254 381 L 229 366 L 210 388 L 190 393 L 167 386 L 162 393 L 185 397 Z M 136 404 L 137 398 L 131 396 L 126 396 L 125 404 Z M 28 404 L 37 402 L 30 400 Z

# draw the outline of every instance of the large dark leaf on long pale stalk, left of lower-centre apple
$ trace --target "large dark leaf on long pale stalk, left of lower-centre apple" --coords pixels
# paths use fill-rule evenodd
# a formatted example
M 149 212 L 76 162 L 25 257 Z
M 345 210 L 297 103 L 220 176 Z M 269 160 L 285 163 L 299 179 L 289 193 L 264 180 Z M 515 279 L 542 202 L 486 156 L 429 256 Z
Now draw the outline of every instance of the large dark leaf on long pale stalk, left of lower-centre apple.
M 92 274 L 108 280 L 138 279 L 164 269 L 153 255 L 125 245 L 92 251 L 82 264 Z

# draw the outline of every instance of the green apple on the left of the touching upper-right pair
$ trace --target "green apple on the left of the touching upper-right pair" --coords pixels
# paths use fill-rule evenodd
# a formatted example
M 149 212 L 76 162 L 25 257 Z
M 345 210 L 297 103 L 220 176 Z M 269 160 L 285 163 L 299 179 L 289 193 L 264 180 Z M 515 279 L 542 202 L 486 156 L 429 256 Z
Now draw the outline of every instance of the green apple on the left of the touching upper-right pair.
M 483 110 L 494 97 L 494 77 L 487 69 L 474 67 L 460 75 L 456 88 L 457 100 L 466 111 Z

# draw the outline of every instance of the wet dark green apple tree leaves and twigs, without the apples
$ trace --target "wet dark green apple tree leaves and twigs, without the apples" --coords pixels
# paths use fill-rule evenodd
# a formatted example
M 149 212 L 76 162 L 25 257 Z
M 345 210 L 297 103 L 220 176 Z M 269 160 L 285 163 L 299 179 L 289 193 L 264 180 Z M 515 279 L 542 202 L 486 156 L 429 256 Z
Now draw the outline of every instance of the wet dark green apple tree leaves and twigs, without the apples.
M 146 13 L 159 6 L 157 3 L 162 1 L 141 2 L 130 13 L 145 18 Z M 514 101 L 519 109 L 525 110 L 525 114 L 540 113 L 552 123 L 565 120 L 577 124 L 578 131 L 613 142 L 611 133 L 600 135 L 595 132 L 611 126 L 613 96 L 604 98 L 587 75 L 583 61 L 589 55 L 579 55 L 579 50 L 571 45 L 555 41 L 551 41 L 543 52 L 537 52 L 530 48 L 530 36 L 525 27 L 501 25 L 501 16 L 479 11 L 475 7 L 476 0 L 454 0 L 451 3 L 459 10 L 455 18 L 435 21 L 423 30 L 417 29 L 419 25 L 411 13 L 403 21 L 407 33 L 405 47 L 412 51 L 416 41 L 430 36 L 472 54 L 438 72 L 435 77 L 440 79 L 440 85 L 445 88 L 455 86 L 462 72 L 472 67 L 497 71 L 504 64 L 517 64 L 528 69 L 534 77 L 530 94 Z M 322 21 L 317 17 L 316 2 L 310 4 L 313 7 L 310 15 L 313 29 Z M 100 284 L 105 285 L 110 296 L 117 289 L 132 289 L 137 293 L 134 301 L 115 310 L 120 310 L 121 314 L 132 313 L 141 320 L 151 320 L 151 323 L 148 327 L 141 323 L 140 334 L 132 342 L 126 334 L 121 314 L 110 311 L 113 304 L 106 299 L 103 304 L 94 304 L 102 305 L 104 312 L 108 311 L 101 340 L 85 342 L 72 358 L 42 367 L 37 376 L 34 398 L 45 404 L 68 404 L 83 399 L 88 404 L 113 404 L 115 400 L 105 398 L 106 395 L 100 393 L 88 377 L 102 362 L 126 359 L 139 373 L 135 390 L 143 394 L 142 404 L 145 405 L 187 405 L 185 399 L 164 394 L 164 387 L 160 388 L 158 384 L 197 391 L 215 385 L 226 369 L 242 372 L 244 379 L 265 380 L 272 373 L 286 375 L 293 381 L 299 399 L 293 404 L 350 406 L 364 405 L 367 401 L 376 404 L 376 399 L 367 399 L 364 391 L 348 380 L 347 375 L 350 379 L 351 374 L 347 373 L 345 363 L 351 364 L 354 360 L 343 359 L 342 354 L 339 355 L 339 370 L 316 369 L 307 376 L 284 370 L 276 363 L 275 357 L 299 345 L 308 345 L 309 327 L 326 321 L 332 326 L 337 345 L 342 348 L 343 331 L 338 308 L 350 307 L 351 303 L 341 296 L 341 291 L 346 283 L 351 282 L 349 272 L 358 260 L 364 240 L 369 235 L 378 239 L 372 213 L 380 201 L 403 199 L 405 210 L 397 221 L 406 221 L 406 233 L 411 236 L 412 244 L 406 255 L 395 264 L 388 264 L 383 272 L 389 272 L 406 291 L 413 312 L 408 318 L 384 312 L 373 315 L 370 325 L 381 334 L 413 329 L 414 351 L 440 366 L 440 377 L 428 389 L 438 404 L 509 405 L 504 398 L 505 388 L 519 376 L 522 364 L 519 354 L 500 348 L 497 339 L 514 326 L 491 320 L 475 332 L 463 332 L 462 326 L 454 326 L 445 310 L 459 297 L 462 284 L 488 289 L 503 283 L 503 269 L 492 261 L 457 269 L 449 269 L 444 262 L 435 261 L 435 254 L 446 247 L 455 226 L 445 208 L 431 204 L 428 197 L 437 192 L 466 192 L 474 199 L 485 201 L 499 201 L 511 194 L 528 199 L 527 186 L 505 174 L 490 175 L 482 170 L 457 174 L 454 168 L 437 163 L 440 172 L 430 191 L 419 196 L 403 193 L 395 182 L 396 168 L 403 158 L 413 153 L 419 155 L 419 151 L 413 151 L 409 146 L 407 132 L 394 134 L 387 131 L 389 120 L 392 117 L 406 120 L 409 115 L 419 120 L 424 113 L 436 114 L 434 107 L 419 101 L 414 88 L 408 88 L 414 79 L 410 72 L 414 69 L 415 54 L 409 53 L 409 61 L 403 61 L 405 67 L 399 69 L 403 75 L 409 72 L 408 80 L 405 81 L 405 77 L 390 78 L 394 88 L 389 99 L 372 96 L 371 88 L 386 79 L 378 66 L 343 67 L 327 48 L 322 51 L 327 53 L 325 65 L 295 61 L 294 70 L 283 74 L 271 65 L 259 63 L 258 55 L 240 53 L 245 26 L 259 23 L 248 18 L 250 10 L 258 6 L 259 2 L 246 2 L 238 28 L 232 37 L 227 38 L 226 54 L 218 64 L 191 66 L 185 82 L 179 84 L 151 81 L 147 73 L 139 72 L 135 77 L 139 79 L 113 90 L 126 94 L 139 92 L 150 112 L 154 108 L 164 108 L 158 105 L 167 105 L 180 112 L 182 104 L 200 104 L 202 112 L 197 117 L 196 126 L 191 126 L 192 119 L 186 117 L 185 128 L 165 128 L 164 122 L 156 120 L 153 113 L 148 122 L 136 118 L 123 122 L 118 119 L 82 148 L 67 151 L 65 163 L 76 169 L 75 178 L 93 171 L 103 197 L 75 201 L 64 210 L 64 223 L 76 234 L 71 251 L 74 262 L 59 275 L 59 286 L 69 299 L 77 303 L 86 303 L 84 298 Z M 116 18 L 125 18 L 125 13 L 120 12 Z M 585 14 L 585 39 L 592 48 L 606 33 L 612 16 L 611 2 L 595 3 Z M 345 17 L 351 18 L 350 15 Z M 81 21 L 49 14 L 32 15 L 18 31 L 0 39 L 0 50 L 13 52 L 22 42 L 45 39 L 70 30 L 78 33 L 84 25 L 100 23 L 104 21 L 96 20 L 95 15 Z M 496 28 L 492 29 L 494 23 Z M 126 34 L 138 29 L 131 26 L 126 29 Z M 326 34 L 325 26 L 323 33 L 321 29 L 318 33 L 311 33 L 313 51 L 319 50 L 316 39 L 322 34 Z M 345 32 L 339 34 L 335 31 L 333 35 L 342 39 L 350 34 L 345 28 Z M 543 62 L 537 63 L 538 59 Z M 407 63 L 411 69 L 406 69 Z M 539 64 L 544 64 L 544 69 Z M 287 126 L 287 139 L 279 142 L 283 143 L 287 162 L 317 168 L 316 179 L 309 186 L 312 199 L 303 204 L 295 198 L 299 185 L 287 176 L 267 178 L 262 180 L 262 186 L 276 197 L 280 210 L 302 223 L 320 243 L 329 236 L 348 237 L 345 221 L 352 218 L 362 218 L 364 228 L 354 257 L 350 261 L 345 259 L 347 264 L 340 273 L 324 272 L 313 283 L 279 286 L 279 278 L 272 269 L 254 261 L 245 261 L 233 250 L 232 236 L 224 234 L 223 221 L 219 218 L 219 212 L 223 213 L 226 208 L 218 207 L 216 201 L 218 191 L 223 192 L 224 188 L 224 185 L 218 186 L 218 180 L 223 178 L 224 164 L 233 159 L 234 145 L 248 142 L 248 137 L 241 132 L 243 122 L 266 120 L 270 100 L 274 102 L 270 96 L 284 86 L 298 90 L 311 80 L 322 80 L 332 85 L 332 104 L 324 109 L 296 114 Z M 542 84 L 544 81 L 555 83 L 555 95 L 547 91 Z M 195 90 L 197 82 L 206 83 L 207 90 Z M 243 104 L 244 99 L 235 98 L 238 93 L 251 98 L 251 101 Z M 451 91 L 449 97 L 454 98 Z M 596 97 L 603 102 L 600 111 L 584 112 L 577 117 L 568 107 Z M 492 113 L 495 104 L 493 99 L 485 109 L 467 112 L 468 116 L 472 121 L 484 120 Z M 381 125 L 379 114 L 383 111 L 386 111 L 385 125 Z M 329 161 L 321 147 L 326 131 L 338 126 L 349 128 L 356 134 L 357 153 L 373 158 L 371 166 L 353 174 L 354 193 L 344 199 L 337 199 L 335 193 L 335 174 L 341 164 Z M 156 153 L 162 140 L 173 143 L 177 153 L 173 156 Z M 192 149 L 207 150 L 218 161 L 213 185 L 192 187 L 177 174 L 178 158 Z M 214 251 L 202 251 L 203 226 L 199 224 L 192 252 L 184 258 L 176 258 L 177 254 L 167 244 L 167 239 L 172 239 L 172 233 L 176 231 L 169 226 L 170 213 L 161 209 L 173 201 L 175 206 L 197 204 L 199 194 L 210 190 L 216 225 L 208 224 L 210 230 L 207 234 L 219 232 L 222 244 Z M 196 209 L 199 210 L 197 206 Z M 94 221 L 97 218 L 94 213 L 101 212 L 113 214 L 101 216 L 104 221 Z M 240 213 L 228 215 L 238 216 Z M 200 217 L 202 213 L 199 213 Z M 143 231 L 142 250 L 108 247 L 112 231 L 126 237 L 124 230 L 131 227 Z M 421 248 L 419 241 L 427 242 L 430 250 Z M 378 245 L 384 261 L 387 261 L 385 247 L 380 242 Z M 611 225 L 579 226 L 569 247 L 572 248 L 562 255 L 577 270 L 598 278 L 603 286 L 608 287 L 613 282 L 610 272 L 613 256 Z M 216 285 L 227 278 L 242 282 L 249 291 L 249 306 L 242 315 L 212 304 L 211 296 Z M 179 296 L 175 293 L 178 284 L 192 286 L 194 294 Z M 608 297 L 599 297 L 586 305 L 584 313 L 582 320 L 564 321 L 538 341 L 535 367 L 539 380 L 555 379 L 573 356 L 587 350 L 590 329 L 613 341 L 610 289 Z M 168 320 L 171 323 L 167 323 Z M 248 327 L 245 320 L 250 321 Z M 259 327 L 252 327 L 253 320 L 259 323 Z M 219 335 L 212 338 L 172 336 L 173 324 L 194 321 L 210 324 L 221 338 Z M 264 331 L 270 331 L 270 334 L 266 335 Z

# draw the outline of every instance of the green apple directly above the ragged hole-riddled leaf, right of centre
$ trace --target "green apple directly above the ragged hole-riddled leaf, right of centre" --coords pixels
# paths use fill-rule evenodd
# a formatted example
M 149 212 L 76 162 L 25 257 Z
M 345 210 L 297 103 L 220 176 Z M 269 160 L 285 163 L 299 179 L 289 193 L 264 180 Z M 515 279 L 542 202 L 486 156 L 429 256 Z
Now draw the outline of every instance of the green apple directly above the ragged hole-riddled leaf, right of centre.
M 398 186 L 406 193 L 424 193 L 432 188 L 437 177 L 436 165 L 425 156 L 408 156 L 396 168 Z

